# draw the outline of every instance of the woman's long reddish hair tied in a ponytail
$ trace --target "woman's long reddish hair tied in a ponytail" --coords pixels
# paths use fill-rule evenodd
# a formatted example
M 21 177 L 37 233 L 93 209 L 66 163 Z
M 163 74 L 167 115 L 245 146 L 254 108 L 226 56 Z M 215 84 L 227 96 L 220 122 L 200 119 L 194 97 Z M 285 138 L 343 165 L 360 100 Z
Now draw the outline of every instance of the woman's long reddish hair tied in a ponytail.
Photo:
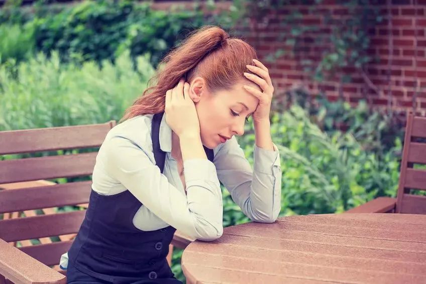
M 166 91 L 173 88 L 181 77 L 190 82 L 200 76 L 206 88 L 215 92 L 230 89 L 241 78 L 243 72 L 251 73 L 246 65 L 254 65 L 256 51 L 244 40 L 230 37 L 220 27 L 203 26 L 193 31 L 182 44 L 169 52 L 159 66 L 148 87 L 129 107 L 120 122 L 146 114 L 164 112 Z

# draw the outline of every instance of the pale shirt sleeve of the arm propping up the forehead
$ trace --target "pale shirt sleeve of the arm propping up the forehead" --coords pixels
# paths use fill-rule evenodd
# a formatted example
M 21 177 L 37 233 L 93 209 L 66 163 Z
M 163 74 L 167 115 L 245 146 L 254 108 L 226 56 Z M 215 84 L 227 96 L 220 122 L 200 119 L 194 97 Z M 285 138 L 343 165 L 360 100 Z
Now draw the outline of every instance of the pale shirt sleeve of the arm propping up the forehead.
M 252 221 L 274 222 L 281 209 L 281 168 L 279 152 L 255 145 L 253 170 L 244 151 L 233 137 L 215 156 L 219 179 L 232 199 Z

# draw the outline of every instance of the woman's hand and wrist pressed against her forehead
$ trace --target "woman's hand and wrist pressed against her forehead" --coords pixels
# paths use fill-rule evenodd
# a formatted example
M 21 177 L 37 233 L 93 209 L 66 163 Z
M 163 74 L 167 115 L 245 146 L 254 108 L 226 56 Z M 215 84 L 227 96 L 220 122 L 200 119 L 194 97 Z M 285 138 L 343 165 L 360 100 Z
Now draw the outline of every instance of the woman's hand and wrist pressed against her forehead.
M 263 92 L 248 85 L 244 85 L 244 88 L 248 90 L 251 94 L 253 94 L 253 96 L 259 99 L 259 104 L 256 108 L 256 111 L 253 113 L 253 121 L 269 122 L 269 113 L 271 110 L 274 87 L 272 86 L 272 81 L 271 77 L 269 76 L 268 68 L 266 68 L 265 65 L 263 65 L 259 60 L 253 59 L 253 62 L 256 64 L 256 66 L 246 66 L 251 72 L 259 75 L 259 77 L 247 72 L 245 72 L 244 75 L 247 79 L 250 79 L 256 84 L 258 84 L 259 87 L 263 90 Z

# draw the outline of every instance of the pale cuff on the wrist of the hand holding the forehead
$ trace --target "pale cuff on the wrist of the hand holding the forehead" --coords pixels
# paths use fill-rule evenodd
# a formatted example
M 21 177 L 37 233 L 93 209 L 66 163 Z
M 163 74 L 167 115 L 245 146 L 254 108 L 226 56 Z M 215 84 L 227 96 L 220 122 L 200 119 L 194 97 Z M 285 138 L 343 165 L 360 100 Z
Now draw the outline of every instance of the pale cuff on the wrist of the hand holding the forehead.
M 273 174 L 274 167 L 281 167 L 278 148 L 274 143 L 272 145 L 274 146 L 274 151 L 259 148 L 255 144 L 253 170 Z

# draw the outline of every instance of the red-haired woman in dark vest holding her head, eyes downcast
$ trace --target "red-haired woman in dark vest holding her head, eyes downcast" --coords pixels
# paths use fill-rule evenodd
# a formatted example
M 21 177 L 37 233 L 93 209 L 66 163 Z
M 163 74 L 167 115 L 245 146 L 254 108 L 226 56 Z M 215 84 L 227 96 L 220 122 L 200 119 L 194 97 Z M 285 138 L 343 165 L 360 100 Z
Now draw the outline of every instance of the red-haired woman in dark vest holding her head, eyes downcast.
M 176 229 L 198 240 L 221 237 L 220 181 L 251 220 L 276 220 L 273 86 L 256 57 L 243 40 L 206 26 L 163 59 L 156 84 L 99 149 L 85 219 L 61 262 L 68 283 L 180 283 L 165 258 L 169 244 Z M 253 170 L 234 137 L 249 116 Z

